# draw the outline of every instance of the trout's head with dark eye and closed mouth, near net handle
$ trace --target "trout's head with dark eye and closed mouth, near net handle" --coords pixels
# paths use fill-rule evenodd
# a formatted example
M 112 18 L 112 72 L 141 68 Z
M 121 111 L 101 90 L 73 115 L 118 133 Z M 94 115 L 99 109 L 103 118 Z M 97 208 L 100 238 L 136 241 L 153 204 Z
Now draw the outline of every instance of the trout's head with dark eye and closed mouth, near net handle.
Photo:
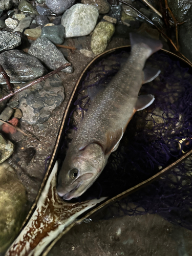
M 67 152 L 58 175 L 57 194 L 65 200 L 81 196 L 98 178 L 106 165 L 102 148 L 91 143 L 78 150 Z

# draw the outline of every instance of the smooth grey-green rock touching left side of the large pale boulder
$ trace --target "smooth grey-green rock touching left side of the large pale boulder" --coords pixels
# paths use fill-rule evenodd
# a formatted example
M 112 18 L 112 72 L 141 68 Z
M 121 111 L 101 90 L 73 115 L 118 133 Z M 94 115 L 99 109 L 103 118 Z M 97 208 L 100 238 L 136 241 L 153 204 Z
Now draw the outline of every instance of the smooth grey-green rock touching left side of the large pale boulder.
M 42 28 L 41 37 L 47 37 L 56 45 L 62 45 L 65 38 L 65 28 L 62 25 Z

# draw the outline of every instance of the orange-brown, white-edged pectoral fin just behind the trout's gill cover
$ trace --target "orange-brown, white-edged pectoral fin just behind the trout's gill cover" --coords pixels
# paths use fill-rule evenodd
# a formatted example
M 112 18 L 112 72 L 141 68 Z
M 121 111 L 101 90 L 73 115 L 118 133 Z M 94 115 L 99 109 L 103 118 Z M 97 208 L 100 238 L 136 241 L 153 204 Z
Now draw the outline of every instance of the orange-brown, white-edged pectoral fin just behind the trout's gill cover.
M 106 134 L 106 147 L 104 151 L 105 155 L 108 155 L 117 149 L 122 137 L 123 137 L 123 128 L 120 128 L 115 132 L 108 132 Z

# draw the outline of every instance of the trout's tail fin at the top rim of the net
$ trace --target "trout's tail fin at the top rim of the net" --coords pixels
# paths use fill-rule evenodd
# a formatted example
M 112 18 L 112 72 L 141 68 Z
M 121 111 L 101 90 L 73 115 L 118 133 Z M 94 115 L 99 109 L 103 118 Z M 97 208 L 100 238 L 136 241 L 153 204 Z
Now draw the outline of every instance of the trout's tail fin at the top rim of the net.
M 163 47 L 162 42 L 160 40 L 144 37 L 136 33 L 130 33 L 130 40 L 132 47 L 134 45 L 138 45 L 143 48 L 150 48 L 151 53 L 149 54 L 149 56 Z

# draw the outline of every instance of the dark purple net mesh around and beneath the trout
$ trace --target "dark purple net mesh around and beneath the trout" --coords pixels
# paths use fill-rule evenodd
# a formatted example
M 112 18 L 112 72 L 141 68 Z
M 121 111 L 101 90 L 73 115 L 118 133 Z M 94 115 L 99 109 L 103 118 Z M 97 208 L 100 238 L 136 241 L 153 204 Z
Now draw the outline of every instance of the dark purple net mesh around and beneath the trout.
M 127 51 L 109 54 L 87 72 L 66 127 L 64 151 L 91 103 L 86 89 L 109 83 L 129 55 Z M 100 177 L 78 200 L 116 196 L 158 173 L 177 160 L 182 150 L 191 148 L 192 76 L 189 68 L 164 52 L 154 54 L 146 65 L 161 70 L 159 77 L 143 85 L 140 91 L 140 94 L 153 94 L 154 103 L 135 114 L 118 150 L 111 154 Z M 183 138 L 187 138 L 186 144 L 180 143 Z M 119 200 L 110 206 L 110 213 L 105 217 L 157 213 L 172 223 L 192 229 L 191 160 L 192 157 L 187 158 L 159 180 Z

